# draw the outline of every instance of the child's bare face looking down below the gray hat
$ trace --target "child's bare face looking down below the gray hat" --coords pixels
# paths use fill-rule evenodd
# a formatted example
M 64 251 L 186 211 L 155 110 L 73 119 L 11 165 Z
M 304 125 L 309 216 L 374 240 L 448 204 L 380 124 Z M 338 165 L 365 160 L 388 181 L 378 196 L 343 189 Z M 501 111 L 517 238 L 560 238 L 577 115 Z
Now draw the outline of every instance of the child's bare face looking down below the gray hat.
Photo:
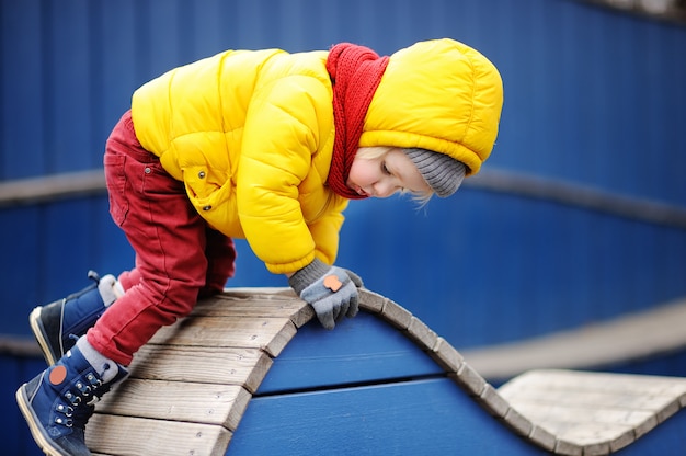
M 402 190 L 430 191 L 412 160 L 399 148 L 389 149 L 377 158 L 355 156 L 345 184 L 359 195 L 377 198 L 386 198 Z

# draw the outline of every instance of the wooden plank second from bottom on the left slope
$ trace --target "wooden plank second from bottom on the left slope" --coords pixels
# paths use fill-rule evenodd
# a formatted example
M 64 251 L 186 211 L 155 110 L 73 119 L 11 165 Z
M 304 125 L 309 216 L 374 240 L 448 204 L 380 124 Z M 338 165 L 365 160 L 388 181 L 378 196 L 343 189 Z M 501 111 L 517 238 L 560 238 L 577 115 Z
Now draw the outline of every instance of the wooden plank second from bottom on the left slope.
M 248 391 L 237 385 L 132 378 L 105 395 L 96 410 L 167 421 L 218 424 L 232 431 L 250 397 Z

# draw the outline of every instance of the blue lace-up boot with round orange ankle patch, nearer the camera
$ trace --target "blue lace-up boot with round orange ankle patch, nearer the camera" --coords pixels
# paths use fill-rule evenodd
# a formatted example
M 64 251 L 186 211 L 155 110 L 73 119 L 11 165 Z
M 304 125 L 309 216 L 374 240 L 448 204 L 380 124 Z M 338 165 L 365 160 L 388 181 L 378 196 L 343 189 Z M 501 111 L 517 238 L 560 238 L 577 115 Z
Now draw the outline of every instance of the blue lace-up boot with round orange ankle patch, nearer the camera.
M 16 390 L 16 403 L 36 444 L 47 455 L 87 456 L 85 423 L 94 403 L 128 372 L 82 338 L 57 364 Z M 81 346 L 79 346 L 81 345 Z M 83 347 L 85 346 L 85 347 Z M 91 364 L 83 351 L 94 353 Z

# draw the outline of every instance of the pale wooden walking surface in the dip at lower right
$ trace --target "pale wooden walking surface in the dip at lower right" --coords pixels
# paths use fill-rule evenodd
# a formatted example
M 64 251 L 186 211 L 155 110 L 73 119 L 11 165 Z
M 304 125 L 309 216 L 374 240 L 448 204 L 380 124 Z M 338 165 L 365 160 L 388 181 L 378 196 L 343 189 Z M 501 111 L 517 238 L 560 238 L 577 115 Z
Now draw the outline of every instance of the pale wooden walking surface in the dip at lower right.
M 624 448 L 676 413 L 686 379 L 627 374 L 535 371 L 499 392 L 534 423 L 583 454 Z

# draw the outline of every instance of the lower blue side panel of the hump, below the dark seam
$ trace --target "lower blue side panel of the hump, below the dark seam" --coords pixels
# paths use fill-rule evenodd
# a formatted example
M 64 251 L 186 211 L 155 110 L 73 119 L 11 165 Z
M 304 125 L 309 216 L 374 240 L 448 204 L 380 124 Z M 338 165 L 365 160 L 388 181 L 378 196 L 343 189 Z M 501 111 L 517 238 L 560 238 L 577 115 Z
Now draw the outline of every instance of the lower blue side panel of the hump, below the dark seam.
M 443 379 L 254 398 L 227 455 L 542 455 Z

